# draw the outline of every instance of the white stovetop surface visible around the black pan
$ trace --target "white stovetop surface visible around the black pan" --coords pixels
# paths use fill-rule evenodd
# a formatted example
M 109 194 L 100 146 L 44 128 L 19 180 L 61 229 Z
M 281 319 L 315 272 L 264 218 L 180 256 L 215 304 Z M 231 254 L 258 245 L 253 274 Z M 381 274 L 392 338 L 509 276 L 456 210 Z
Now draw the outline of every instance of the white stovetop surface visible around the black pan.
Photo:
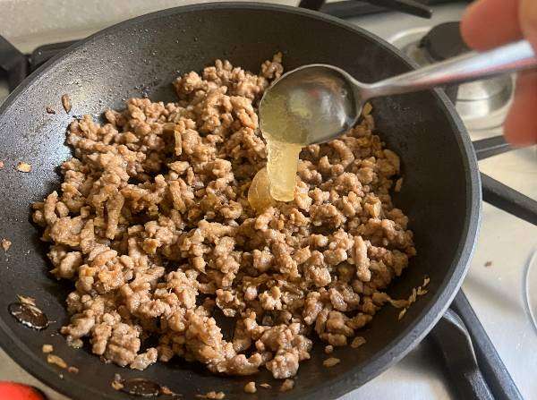
M 22 51 L 45 43 L 83 38 L 117 21 L 196 0 L 0 0 L 0 34 Z M 270 3 L 295 5 L 297 0 Z M 437 7 L 433 21 L 455 21 L 462 4 Z M 394 13 L 396 24 L 382 24 L 379 17 L 355 19 L 363 28 L 383 38 L 394 38 L 396 26 L 431 25 Z M 4 98 L 0 84 L 0 102 Z M 471 132 L 482 139 L 495 132 Z M 497 134 L 497 132 L 496 132 Z M 483 173 L 537 199 L 537 153 L 519 149 L 480 162 Z M 537 251 L 537 227 L 488 204 L 483 207 L 482 229 L 464 290 L 503 362 L 526 399 L 537 399 L 537 335 L 524 311 L 524 267 Z M 490 267 L 485 263 L 492 262 Z M 537 285 L 536 285 L 537 287 Z M 423 343 L 396 366 L 363 387 L 342 397 L 358 398 L 456 398 L 439 367 L 434 352 Z M 0 349 L 0 380 L 14 380 L 43 389 L 51 400 L 68 400 L 38 382 Z

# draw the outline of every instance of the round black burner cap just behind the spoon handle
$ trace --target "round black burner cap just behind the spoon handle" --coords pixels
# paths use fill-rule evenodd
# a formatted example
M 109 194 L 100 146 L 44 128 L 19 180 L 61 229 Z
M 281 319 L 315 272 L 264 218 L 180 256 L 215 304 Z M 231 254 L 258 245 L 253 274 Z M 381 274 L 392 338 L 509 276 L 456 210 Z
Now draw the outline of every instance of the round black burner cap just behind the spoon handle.
M 470 50 L 461 36 L 459 22 L 445 22 L 435 26 L 422 38 L 420 47 L 432 61 L 444 61 Z

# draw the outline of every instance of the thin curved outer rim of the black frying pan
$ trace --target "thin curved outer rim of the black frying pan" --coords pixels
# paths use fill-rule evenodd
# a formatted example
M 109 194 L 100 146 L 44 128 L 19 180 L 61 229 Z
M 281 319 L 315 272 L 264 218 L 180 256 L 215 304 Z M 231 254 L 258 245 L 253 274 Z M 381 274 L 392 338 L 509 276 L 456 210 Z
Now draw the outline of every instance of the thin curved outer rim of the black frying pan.
M 132 24 L 150 21 L 175 13 L 192 13 L 208 9 L 268 10 L 294 13 L 312 19 L 329 22 L 339 26 L 340 28 L 351 30 L 354 33 L 359 33 L 364 37 L 370 38 L 380 47 L 384 47 L 385 50 L 388 50 L 393 55 L 401 58 L 410 68 L 416 68 L 416 64 L 414 64 L 412 60 L 409 60 L 405 55 L 402 55 L 396 49 L 396 47 L 391 46 L 383 39 L 377 37 L 371 32 L 368 32 L 367 30 L 363 30 L 358 26 L 352 25 L 349 22 L 342 21 L 336 17 L 323 13 L 288 5 L 260 4 L 254 2 L 190 4 L 168 8 L 154 13 L 148 13 L 127 21 L 122 21 L 107 27 L 104 30 L 99 30 L 88 38 L 79 40 L 71 47 L 65 49 L 61 54 L 55 55 L 55 57 L 40 66 L 35 72 L 32 72 L 30 76 L 23 81 L 21 85 L 17 87 L 17 89 L 14 90 L 8 98 L 5 99 L 4 104 L 0 106 L 0 122 L 2 121 L 6 111 L 10 108 L 10 106 L 13 105 L 14 100 L 19 98 L 24 91 L 28 89 L 30 85 L 38 79 L 38 77 L 40 77 L 41 74 L 47 72 L 50 67 L 71 55 L 72 50 L 82 47 L 92 40 L 106 36 L 111 32 L 127 28 Z M 367 381 L 378 376 L 382 371 L 387 370 L 390 366 L 401 360 L 406 353 L 412 350 L 413 347 L 429 333 L 430 329 L 433 328 L 436 322 L 441 318 L 444 311 L 447 310 L 447 307 L 455 297 L 460 285 L 462 285 L 463 278 L 465 277 L 465 273 L 469 268 L 470 260 L 473 255 L 481 221 L 481 181 L 477 160 L 475 158 L 473 147 L 465 130 L 464 124 L 462 123 L 460 117 L 456 114 L 455 108 L 451 105 L 446 94 L 439 89 L 434 89 L 432 92 L 434 93 L 435 98 L 439 100 L 439 107 L 441 107 L 441 110 L 445 113 L 445 115 L 448 116 L 448 121 L 456 136 L 456 142 L 461 150 L 465 164 L 465 190 L 467 192 L 465 205 L 465 224 L 463 233 L 461 234 L 461 239 L 459 240 L 456 249 L 456 256 L 452 260 L 451 267 L 447 270 L 446 277 L 444 277 L 444 280 L 440 283 L 439 290 L 428 300 L 428 304 L 423 308 L 420 314 L 415 317 L 413 324 L 410 324 L 407 328 L 402 330 L 390 343 L 388 343 L 388 345 L 379 351 L 379 353 L 375 354 L 375 356 L 371 358 L 371 361 L 367 362 L 362 370 L 347 370 L 336 379 L 330 380 L 330 385 L 325 384 L 321 387 L 312 387 L 310 390 L 305 390 L 300 398 L 336 398 L 337 396 L 342 396 L 345 393 L 350 392 L 354 388 L 362 386 Z M 13 335 L 13 331 L 11 331 L 7 324 L 5 324 L 3 319 L 0 319 L 0 333 L 0 346 L 4 349 L 4 351 L 13 358 L 13 361 L 17 362 L 24 370 L 30 372 L 32 376 L 39 379 L 48 387 L 52 387 L 57 392 L 62 393 L 65 396 L 72 396 L 73 398 L 85 398 L 88 396 L 89 391 L 93 392 L 90 387 L 81 387 L 79 384 L 77 384 L 75 378 L 69 377 L 69 374 L 64 374 L 64 379 L 60 379 L 54 370 L 43 367 L 42 360 L 40 359 L 38 359 L 39 362 L 32 363 L 31 358 L 36 358 L 36 354 L 31 352 L 30 349 L 23 343 L 16 340 L 16 336 Z M 30 357 L 25 357 L 25 354 L 30 355 Z M 107 393 L 99 393 L 97 391 L 94 393 L 95 395 L 101 396 L 101 398 L 113 398 L 112 396 L 108 396 Z

